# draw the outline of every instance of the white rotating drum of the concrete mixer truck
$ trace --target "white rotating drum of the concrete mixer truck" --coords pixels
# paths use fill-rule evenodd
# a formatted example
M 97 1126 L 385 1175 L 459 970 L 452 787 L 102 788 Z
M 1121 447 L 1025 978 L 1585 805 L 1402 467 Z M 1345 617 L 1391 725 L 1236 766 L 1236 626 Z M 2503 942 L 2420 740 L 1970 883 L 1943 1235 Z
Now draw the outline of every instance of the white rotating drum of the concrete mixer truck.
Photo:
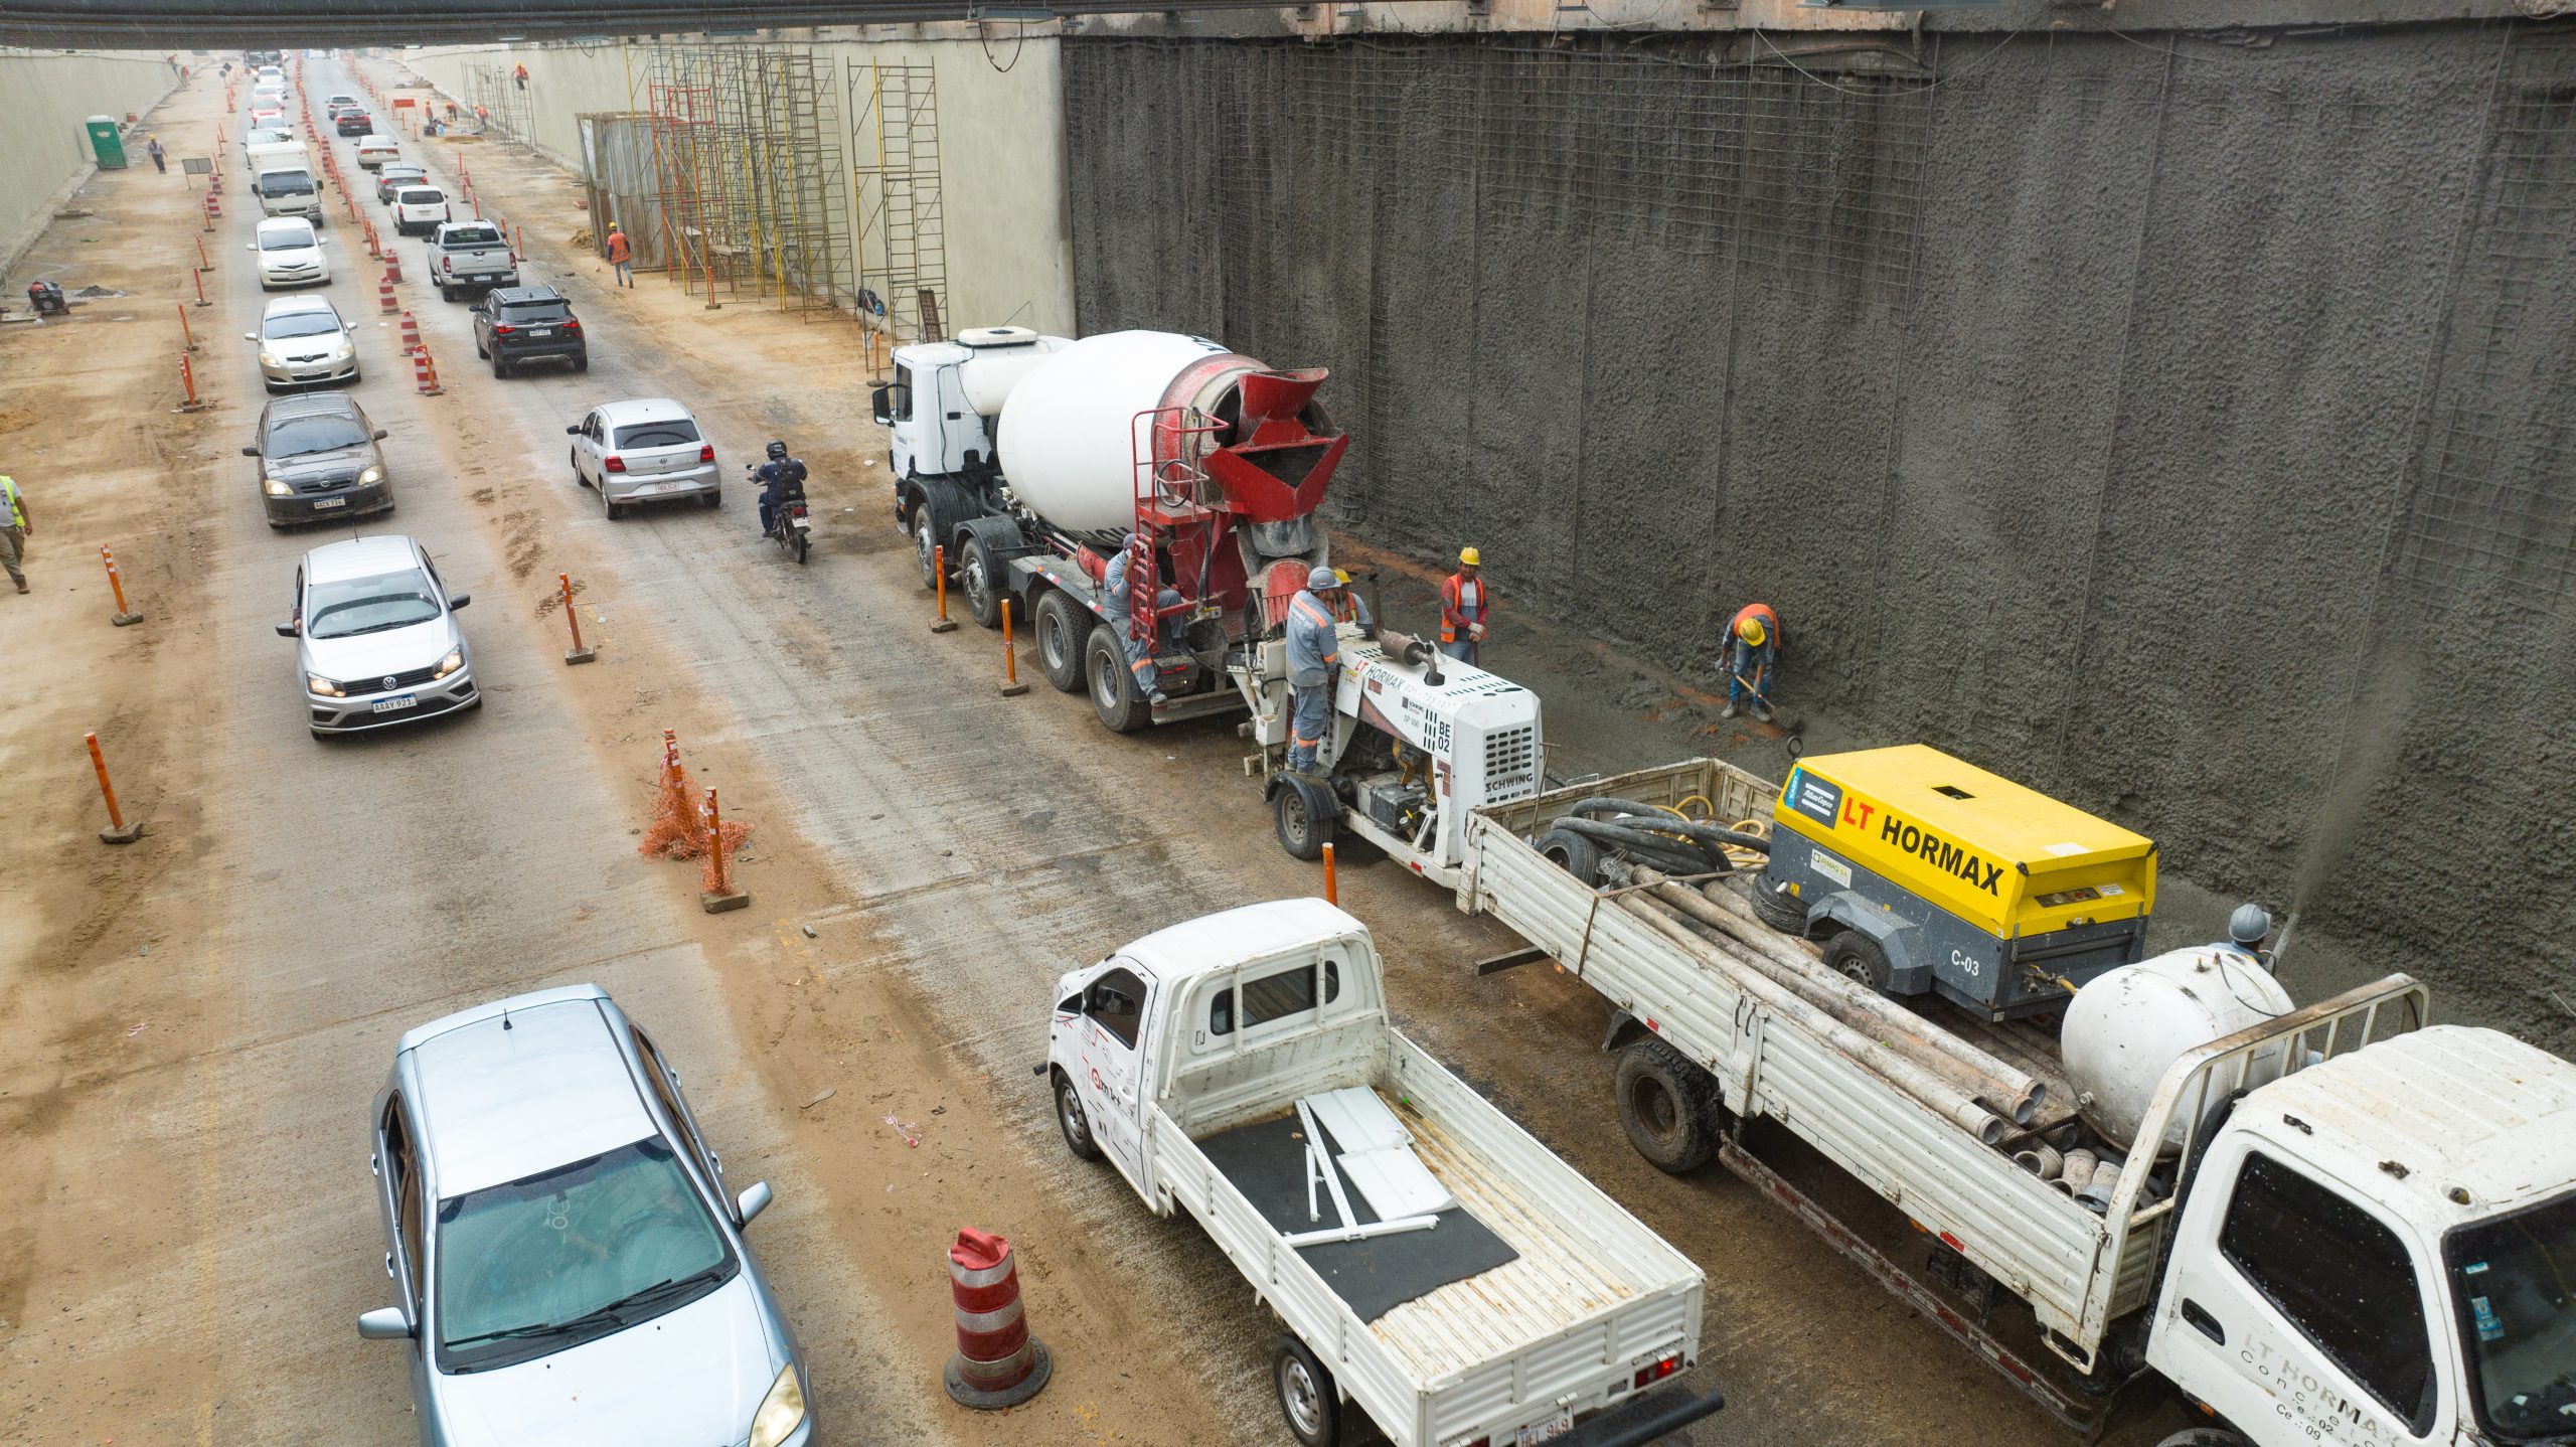
M 1002 476 L 1030 510 L 1074 533 L 1126 530 L 1136 520 L 1139 412 L 1195 404 L 1172 397 L 1182 373 L 1226 348 L 1175 332 L 1103 332 L 1054 353 L 1010 389 L 1002 409 Z M 1242 358 L 1242 366 L 1260 363 Z M 1190 391 L 1198 391 L 1195 386 Z

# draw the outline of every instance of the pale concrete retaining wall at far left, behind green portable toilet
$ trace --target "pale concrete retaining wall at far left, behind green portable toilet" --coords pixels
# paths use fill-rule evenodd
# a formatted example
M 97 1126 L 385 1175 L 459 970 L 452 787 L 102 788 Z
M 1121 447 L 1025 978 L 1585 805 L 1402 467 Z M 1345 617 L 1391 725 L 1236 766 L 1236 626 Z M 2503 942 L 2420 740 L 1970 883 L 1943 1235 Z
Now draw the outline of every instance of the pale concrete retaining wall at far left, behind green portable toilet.
M 15 268 L 44 221 L 90 178 L 90 142 L 82 121 L 126 111 L 142 116 L 178 88 L 162 57 L 108 51 L 0 51 L 0 270 Z M 149 126 L 144 126 L 149 129 Z M 134 165 L 152 167 L 142 154 L 144 129 L 126 152 Z M 214 134 L 162 136 L 173 162 L 211 154 Z M 26 301 L 21 296 L 18 301 Z

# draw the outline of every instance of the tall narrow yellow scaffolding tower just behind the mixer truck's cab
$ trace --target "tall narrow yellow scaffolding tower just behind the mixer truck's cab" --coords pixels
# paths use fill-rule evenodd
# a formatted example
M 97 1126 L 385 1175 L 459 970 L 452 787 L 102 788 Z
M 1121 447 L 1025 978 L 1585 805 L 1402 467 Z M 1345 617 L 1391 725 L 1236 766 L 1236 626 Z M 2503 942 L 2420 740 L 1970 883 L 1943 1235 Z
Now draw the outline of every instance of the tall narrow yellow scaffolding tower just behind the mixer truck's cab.
M 858 157 L 860 322 L 868 371 L 878 342 L 935 342 L 948 317 L 948 211 L 940 198 L 938 75 L 927 64 L 850 67 L 850 152 Z M 868 255 L 871 239 L 876 257 Z M 876 265 L 871 265 L 871 260 Z

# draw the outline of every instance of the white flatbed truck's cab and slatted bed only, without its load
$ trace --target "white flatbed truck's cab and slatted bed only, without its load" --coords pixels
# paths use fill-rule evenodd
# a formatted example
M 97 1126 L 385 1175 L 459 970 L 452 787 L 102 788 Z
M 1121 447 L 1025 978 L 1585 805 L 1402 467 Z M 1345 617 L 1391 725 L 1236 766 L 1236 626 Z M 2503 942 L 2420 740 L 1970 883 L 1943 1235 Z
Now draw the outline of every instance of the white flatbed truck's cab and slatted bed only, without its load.
M 2079 1432 L 2112 1421 L 2112 1393 L 2161 1377 L 2208 1414 L 2169 1447 L 2576 1442 L 2568 1061 L 2429 1025 L 2429 991 L 2388 976 L 2184 1050 L 2136 1130 L 2164 1141 L 2179 1123 L 2179 1153 L 2130 1151 L 2092 1210 L 2012 1161 L 2069 1123 L 2063 1076 L 2056 1110 L 1984 1141 L 1767 1007 L 1752 966 L 1682 948 L 1633 888 L 1592 888 L 1533 847 L 1602 796 L 1698 796 L 1734 821 L 1767 819 L 1777 788 L 1690 760 L 1486 806 L 1468 824 L 1458 906 L 1510 924 L 1610 1002 L 1618 1110 L 1649 1161 L 1687 1172 L 1713 1153 Z M 2050 1074 L 2053 1040 L 2035 1025 L 1978 1030 L 1953 1014 L 1940 1027 Z M 1947 1285 L 1899 1267 L 1886 1233 L 1759 1159 L 1777 1130 L 1937 1241 L 1927 1274 Z M 1989 1329 L 1996 1293 L 2027 1305 L 2074 1377 Z

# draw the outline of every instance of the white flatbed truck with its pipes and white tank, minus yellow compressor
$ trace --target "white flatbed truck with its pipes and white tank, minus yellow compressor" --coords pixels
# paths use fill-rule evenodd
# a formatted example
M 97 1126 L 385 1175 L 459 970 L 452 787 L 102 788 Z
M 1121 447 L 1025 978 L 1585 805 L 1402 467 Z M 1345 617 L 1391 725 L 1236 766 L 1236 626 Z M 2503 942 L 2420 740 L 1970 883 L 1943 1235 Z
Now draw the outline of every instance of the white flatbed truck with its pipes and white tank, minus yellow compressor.
M 2298 1007 L 2267 922 L 2053 1027 L 1891 999 L 1754 909 L 1777 798 L 1687 760 L 1468 819 L 1458 906 L 1528 940 L 1481 971 L 1607 999 L 1638 1153 L 1716 1156 L 2079 1432 L 2576 1439 L 2576 1066 L 2406 976 Z

